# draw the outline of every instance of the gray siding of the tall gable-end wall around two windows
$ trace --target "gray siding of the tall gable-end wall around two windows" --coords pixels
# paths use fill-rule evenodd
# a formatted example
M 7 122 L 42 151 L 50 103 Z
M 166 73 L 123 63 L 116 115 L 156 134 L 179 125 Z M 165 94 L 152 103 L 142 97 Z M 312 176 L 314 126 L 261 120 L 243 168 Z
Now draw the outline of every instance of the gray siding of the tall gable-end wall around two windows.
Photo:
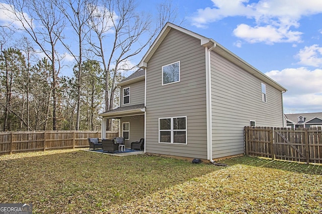
M 180 61 L 180 82 L 162 86 L 162 66 Z M 158 118 L 187 116 L 187 145 L 158 143 Z M 147 63 L 146 152 L 207 158 L 205 48 L 172 29 Z

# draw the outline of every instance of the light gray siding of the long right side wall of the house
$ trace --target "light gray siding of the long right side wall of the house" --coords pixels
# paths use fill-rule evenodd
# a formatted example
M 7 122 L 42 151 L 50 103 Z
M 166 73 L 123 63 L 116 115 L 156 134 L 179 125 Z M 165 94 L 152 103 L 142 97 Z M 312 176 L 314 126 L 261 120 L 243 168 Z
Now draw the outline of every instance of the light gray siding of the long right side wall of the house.
M 244 153 L 244 126 L 283 126 L 282 94 L 215 52 L 211 52 L 212 158 Z

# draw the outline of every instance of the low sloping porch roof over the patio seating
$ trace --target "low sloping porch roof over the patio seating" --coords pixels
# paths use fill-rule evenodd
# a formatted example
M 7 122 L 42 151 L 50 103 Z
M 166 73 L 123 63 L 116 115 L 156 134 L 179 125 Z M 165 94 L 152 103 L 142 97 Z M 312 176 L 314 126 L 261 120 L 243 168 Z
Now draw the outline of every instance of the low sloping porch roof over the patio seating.
M 107 112 L 104 112 L 102 114 L 99 114 L 99 116 L 103 117 L 122 117 L 122 116 L 129 116 L 129 115 L 140 115 L 144 114 L 145 107 L 144 104 L 139 105 L 132 105 L 132 106 L 123 106 L 119 107 L 117 109 L 113 109 Z

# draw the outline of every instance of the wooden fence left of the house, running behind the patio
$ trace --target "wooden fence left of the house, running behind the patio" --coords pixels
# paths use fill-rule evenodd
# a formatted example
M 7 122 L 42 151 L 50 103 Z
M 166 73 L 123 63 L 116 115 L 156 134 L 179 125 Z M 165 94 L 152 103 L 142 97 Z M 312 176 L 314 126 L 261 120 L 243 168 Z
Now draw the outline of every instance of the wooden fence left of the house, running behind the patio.
M 106 138 L 118 137 L 118 132 L 106 132 Z M 101 132 L 94 131 L 29 131 L 0 132 L 0 154 L 23 151 L 45 151 L 88 147 L 90 137 L 101 138 Z

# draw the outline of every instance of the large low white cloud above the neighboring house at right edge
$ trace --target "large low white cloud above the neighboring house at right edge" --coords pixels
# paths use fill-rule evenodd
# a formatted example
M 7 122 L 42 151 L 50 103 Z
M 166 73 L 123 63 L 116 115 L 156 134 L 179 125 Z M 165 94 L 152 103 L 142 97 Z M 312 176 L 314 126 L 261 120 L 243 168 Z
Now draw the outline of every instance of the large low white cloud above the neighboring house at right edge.
M 322 69 L 288 68 L 267 76 L 287 89 L 283 94 L 285 113 L 322 111 Z

